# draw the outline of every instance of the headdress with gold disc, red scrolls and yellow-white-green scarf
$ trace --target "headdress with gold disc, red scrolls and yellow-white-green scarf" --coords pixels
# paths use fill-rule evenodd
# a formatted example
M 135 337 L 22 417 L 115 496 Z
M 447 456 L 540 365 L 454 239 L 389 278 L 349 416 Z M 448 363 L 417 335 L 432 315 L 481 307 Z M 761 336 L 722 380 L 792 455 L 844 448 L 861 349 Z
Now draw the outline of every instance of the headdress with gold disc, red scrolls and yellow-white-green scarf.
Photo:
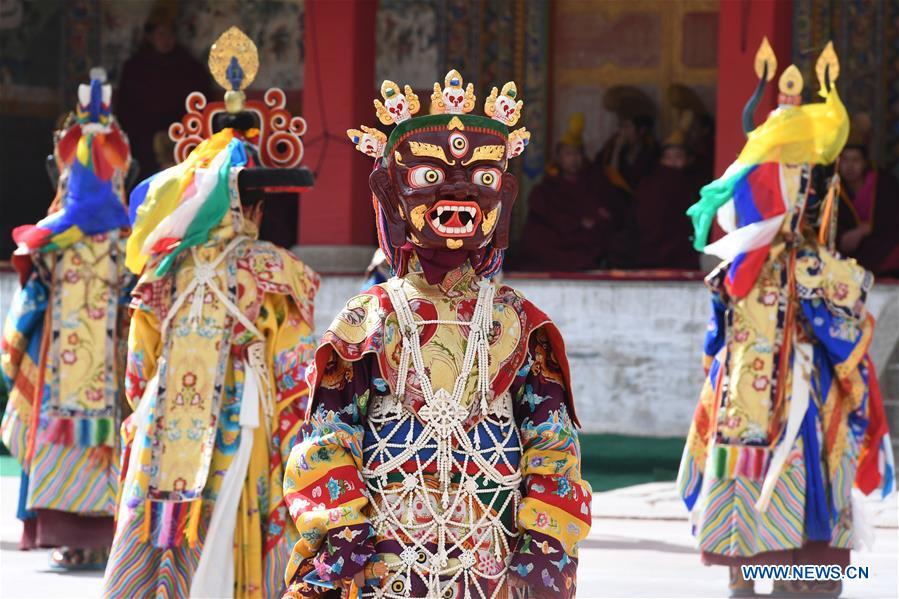
M 207 103 L 202 93 L 189 94 L 187 114 L 169 127 L 178 164 L 142 181 L 131 193 L 134 230 L 126 264 L 135 273 L 156 256 L 161 258 L 157 274 L 164 274 L 180 252 L 206 243 L 213 229 L 227 225 L 232 211 L 239 214 L 231 206 L 232 168 L 277 167 L 283 176 L 275 185 L 254 187 L 263 190 L 299 192 L 312 185 L 312 174 L 296 168 L 303 157 L 300 136 L 306 121 L 287 111 L 284 92 L 269 89 L 264 103 L 246 99 L 243 90 L 259 70 L 253 41 L 231 27 L 213 44 L 209 70 L 226 90 L 224 102 Z M 233 219 L 231 225 L 239 227 Z

